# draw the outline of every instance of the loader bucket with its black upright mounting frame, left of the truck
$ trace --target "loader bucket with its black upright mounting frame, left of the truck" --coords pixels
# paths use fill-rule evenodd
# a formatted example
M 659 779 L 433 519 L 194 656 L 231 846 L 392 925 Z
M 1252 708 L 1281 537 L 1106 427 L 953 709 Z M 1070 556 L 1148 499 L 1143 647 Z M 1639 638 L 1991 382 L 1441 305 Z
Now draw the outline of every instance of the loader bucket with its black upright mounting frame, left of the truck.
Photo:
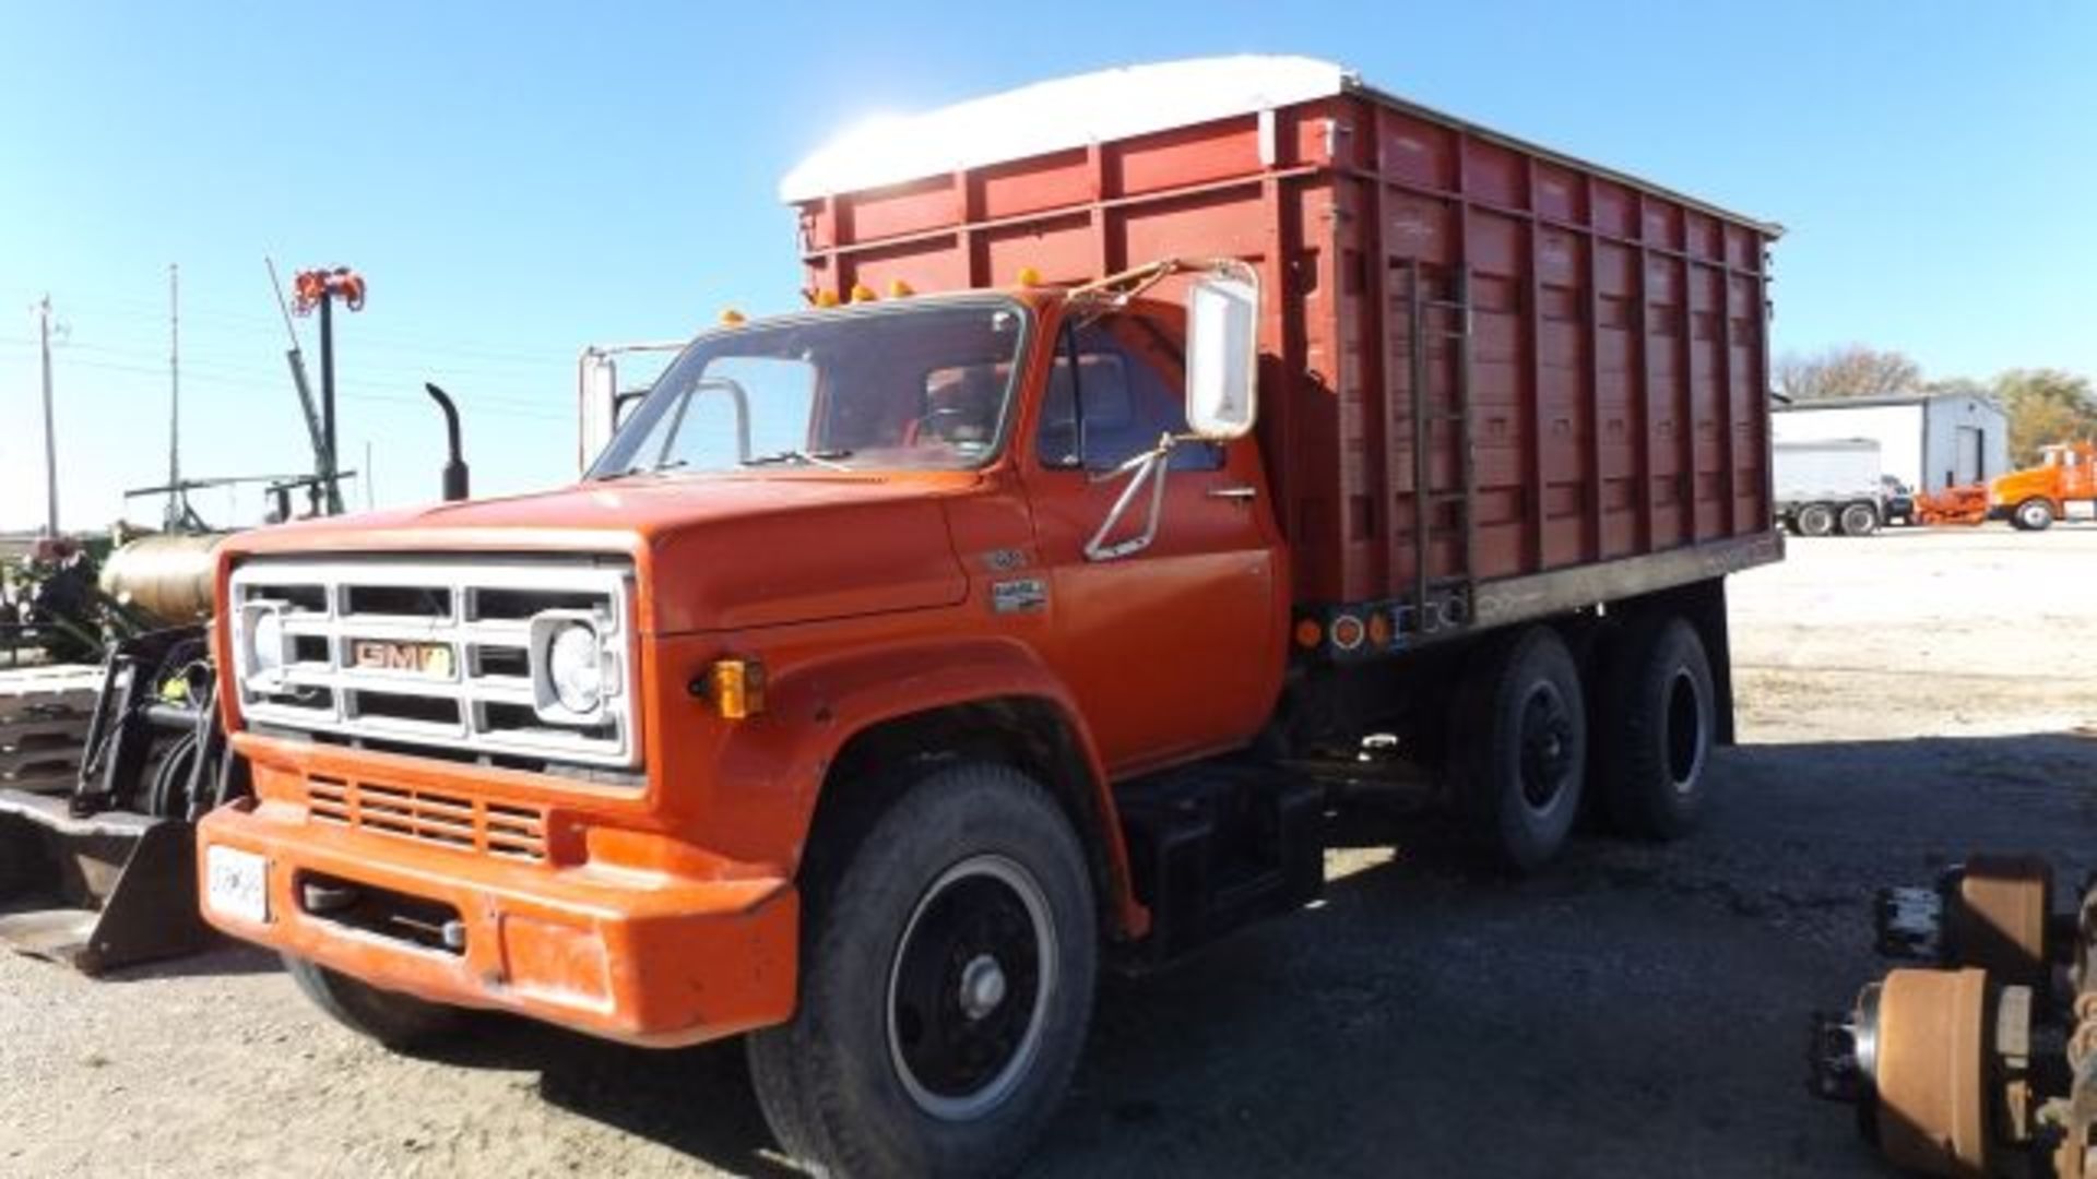
M 101 973 L 201 948 L 193 822 L 245 791 L 203 627 L 115 644 L 69 795 L 0 789 L 0 944 Z

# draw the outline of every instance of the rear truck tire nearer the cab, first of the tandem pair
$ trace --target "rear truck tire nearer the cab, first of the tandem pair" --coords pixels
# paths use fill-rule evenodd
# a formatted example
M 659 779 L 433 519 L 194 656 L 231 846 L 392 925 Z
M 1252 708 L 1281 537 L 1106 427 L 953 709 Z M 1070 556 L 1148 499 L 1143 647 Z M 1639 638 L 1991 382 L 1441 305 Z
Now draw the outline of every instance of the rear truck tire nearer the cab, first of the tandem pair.
M 1587 707 L 1552 627 L 1487 640 L 1457 688 L 1449 776 L 1476 848 L 1514 873 L 1548 864 L 1579 816 Z

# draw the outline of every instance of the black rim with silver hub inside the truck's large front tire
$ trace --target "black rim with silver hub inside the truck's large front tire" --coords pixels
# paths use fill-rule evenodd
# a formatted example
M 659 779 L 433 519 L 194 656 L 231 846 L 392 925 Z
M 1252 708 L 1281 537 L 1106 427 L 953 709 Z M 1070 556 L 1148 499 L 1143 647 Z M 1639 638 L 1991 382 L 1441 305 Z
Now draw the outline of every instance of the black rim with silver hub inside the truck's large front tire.
M 918 900 L 889 971 L 889 1055 L 912 1101 L 944 1120 L 998 1108 L 1040 1049 L 1055 931 L 1034 875 L 975 856 Z

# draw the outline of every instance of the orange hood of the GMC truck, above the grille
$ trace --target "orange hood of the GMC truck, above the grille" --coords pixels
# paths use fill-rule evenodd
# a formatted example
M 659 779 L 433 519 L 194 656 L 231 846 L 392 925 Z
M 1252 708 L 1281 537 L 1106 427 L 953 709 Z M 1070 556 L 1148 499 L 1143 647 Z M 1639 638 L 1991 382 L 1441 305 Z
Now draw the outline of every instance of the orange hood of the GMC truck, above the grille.
M 942 499 L 975 474 L 669 476 L 300 520 L 241 533 L 266 554 L 619 554 L 650 634 L 742 629 L 950 606 L 969 583 Z

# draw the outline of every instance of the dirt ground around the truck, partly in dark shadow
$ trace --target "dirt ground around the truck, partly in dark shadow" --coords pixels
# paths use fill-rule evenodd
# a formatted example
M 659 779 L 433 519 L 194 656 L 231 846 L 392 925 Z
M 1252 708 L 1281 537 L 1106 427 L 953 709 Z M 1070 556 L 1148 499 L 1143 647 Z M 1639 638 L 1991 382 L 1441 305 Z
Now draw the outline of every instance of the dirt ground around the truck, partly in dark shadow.
M 1478 877 L 1432 827 L 1315 908 L 1103 984 L 1036 1175 L 1883 1175 L 1806 1095 L 1871 889 L 2097 860 L 2097 529 L 1793 541 L 1734 579 L 1711 822 Z M 260 955 L 88 982 L 0 957 L 0 1175 L 768 1175 L 738 1045 L 493 1022 L 445 1059 Z

